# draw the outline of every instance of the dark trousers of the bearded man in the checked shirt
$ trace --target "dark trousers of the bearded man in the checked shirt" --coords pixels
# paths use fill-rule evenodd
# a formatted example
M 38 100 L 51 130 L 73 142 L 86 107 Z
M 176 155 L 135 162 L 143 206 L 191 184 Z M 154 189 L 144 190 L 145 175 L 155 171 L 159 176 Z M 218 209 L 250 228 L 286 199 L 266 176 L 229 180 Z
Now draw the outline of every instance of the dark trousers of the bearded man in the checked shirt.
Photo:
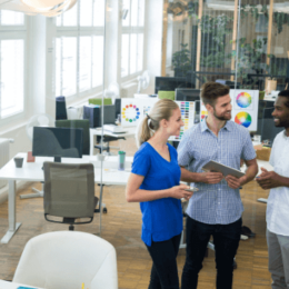
M 217 289 L 232 288 L 232 263 L 239 247 L 242 219 L 229 225 L 208 225 L 187 217 L 187 257 L 181 288 L 195 289 L 210 236 L 213 237 Z

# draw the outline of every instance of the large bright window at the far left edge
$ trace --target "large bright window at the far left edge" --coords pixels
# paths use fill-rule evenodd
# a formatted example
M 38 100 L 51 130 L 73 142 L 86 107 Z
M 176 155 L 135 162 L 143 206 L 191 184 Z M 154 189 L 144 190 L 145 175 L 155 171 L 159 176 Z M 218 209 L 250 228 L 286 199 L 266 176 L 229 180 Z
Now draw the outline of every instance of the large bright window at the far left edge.
M 0 10 L 0 118 L 24 110 L 26 23 L 23 13 Z

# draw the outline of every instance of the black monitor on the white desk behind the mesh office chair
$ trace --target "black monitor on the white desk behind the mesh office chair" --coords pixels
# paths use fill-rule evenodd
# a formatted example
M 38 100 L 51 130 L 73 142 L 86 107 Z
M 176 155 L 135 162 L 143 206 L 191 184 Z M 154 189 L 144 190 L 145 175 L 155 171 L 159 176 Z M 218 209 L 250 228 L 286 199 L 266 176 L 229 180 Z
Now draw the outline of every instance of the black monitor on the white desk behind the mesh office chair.
M 32 156 L 61 158 L 82 158 L 83 129 L 34 127 Z

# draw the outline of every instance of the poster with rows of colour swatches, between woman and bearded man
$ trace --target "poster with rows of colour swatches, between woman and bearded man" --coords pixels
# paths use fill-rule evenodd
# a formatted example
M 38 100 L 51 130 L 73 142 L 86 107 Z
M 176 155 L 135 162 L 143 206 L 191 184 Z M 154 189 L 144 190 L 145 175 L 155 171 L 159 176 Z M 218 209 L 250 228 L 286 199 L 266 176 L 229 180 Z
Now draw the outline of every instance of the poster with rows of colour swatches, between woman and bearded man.
M 193 101 L 176 101 L 181 111 L 181 120 L 183 121 L 183 127 L 181 127 L 179 136 L 172 136 L 169 140 L 180 141 L 185 131 L 190 129 L 195 124 L 195 110 L 196 106 Z

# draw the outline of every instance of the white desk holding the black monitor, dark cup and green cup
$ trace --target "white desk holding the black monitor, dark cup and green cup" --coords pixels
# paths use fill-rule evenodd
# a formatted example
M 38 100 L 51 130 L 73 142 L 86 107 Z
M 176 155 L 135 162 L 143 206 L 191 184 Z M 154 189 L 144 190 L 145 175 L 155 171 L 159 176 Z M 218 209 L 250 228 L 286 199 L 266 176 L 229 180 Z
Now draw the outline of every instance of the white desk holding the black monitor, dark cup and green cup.
M 42 163 L 44 161 L 53 161 L 53 158 L 37 157 L 36 162 L 27 162 L 27 153 L 18 153 L 17 157 L 24 158 L 23 167 L 16 168 L 14 160 L 11 159 L 1 170 L 0 179 L 8 180 L 8 223 L 9 228 L 4 237 L 1 239 L 2 243 L 8 243 L 16 231 L 21 226 L 21 222 L 16 222 L 16 181 L 43 181 Z M 97 161 L 96 157 L 83 156 L 82 159 L 61 158 L 63 163 L 88 163 L 94 166 L 94 182 L 104 185 L 127 185 L 130 175 L 132 157 L 126 158 L 126 171 L 119 171 L 118 157 L 108 157 L 102 163 L 102 179 L 101 179 L 101 162 Z M 100 186 L 100 231 L 101 231 L 101 202 L 102 202 L 102 186 Z

